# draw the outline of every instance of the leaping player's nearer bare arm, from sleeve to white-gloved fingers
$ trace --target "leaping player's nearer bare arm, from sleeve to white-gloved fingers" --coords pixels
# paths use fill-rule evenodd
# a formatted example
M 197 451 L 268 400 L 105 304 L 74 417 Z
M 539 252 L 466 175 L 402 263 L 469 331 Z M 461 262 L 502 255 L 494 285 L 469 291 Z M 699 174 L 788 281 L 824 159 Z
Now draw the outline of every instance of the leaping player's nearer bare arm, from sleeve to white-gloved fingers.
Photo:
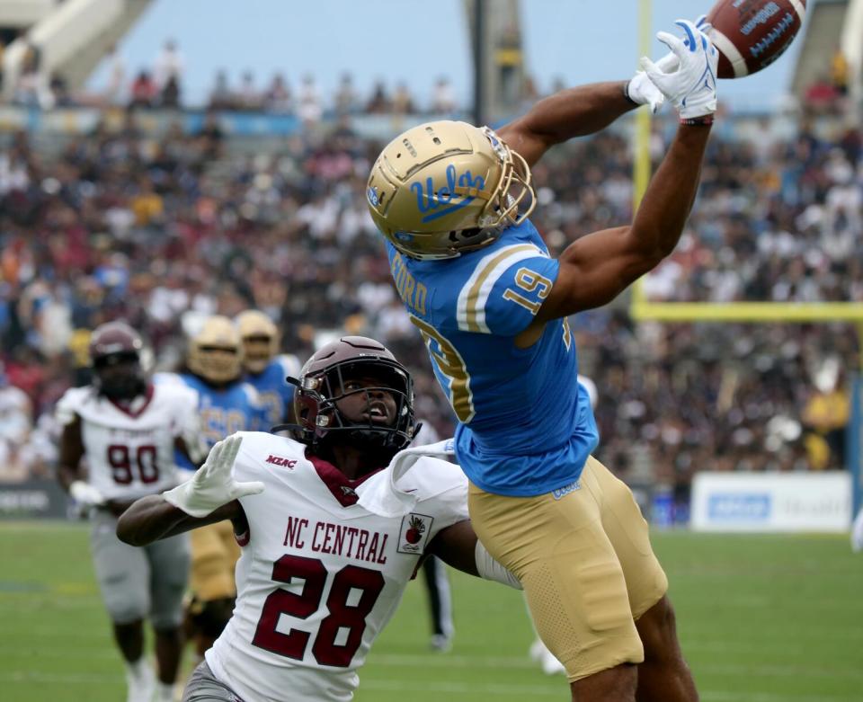
M 585 235 L 561 253 L 554 287 L 537 323 L 601 307 L 672 253 L 698 191 L 710 123 L 716 111 L 716 49 L 692 22 L 679 22 L 682 41 L 659 38 L 681 65 L 664 73 L 649 61 L 647 76 L 681 115 L 681 125 L 645 192 L 632 224 Z M 535 323 L 536 324 L 536 323 Z

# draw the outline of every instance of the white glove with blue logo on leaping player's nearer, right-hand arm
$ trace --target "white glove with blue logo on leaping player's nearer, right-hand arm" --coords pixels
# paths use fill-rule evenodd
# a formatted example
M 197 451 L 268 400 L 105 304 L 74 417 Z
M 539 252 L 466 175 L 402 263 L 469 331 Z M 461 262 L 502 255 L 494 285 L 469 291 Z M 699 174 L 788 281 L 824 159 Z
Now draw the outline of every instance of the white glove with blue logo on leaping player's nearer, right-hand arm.
M 676 71 L 666 73 L 649 58 L 642 57 L 641 67 L 651 82 L 674 105 L 681 120 L 713 114 L 716 111 L 716 67 L 719 64 L 719 52 L 698 25 L 688 20 L 674 23 L 683 29 L 684 40 L 667 31 L 660 31 L 656 38 L 672 49 L 680 61 L 680 66 Z M 705 22 L 702 22 L 701 26 L 708 28 Z

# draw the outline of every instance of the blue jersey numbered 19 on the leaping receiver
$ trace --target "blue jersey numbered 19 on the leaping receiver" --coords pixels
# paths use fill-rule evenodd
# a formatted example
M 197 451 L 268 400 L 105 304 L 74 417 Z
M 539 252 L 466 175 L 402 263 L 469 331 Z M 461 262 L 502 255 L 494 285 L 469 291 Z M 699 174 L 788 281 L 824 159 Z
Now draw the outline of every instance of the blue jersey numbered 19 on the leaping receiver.
M 494 244 L 445 261 L 417 261 L 391 244 L 388 253 L 458 417 L 456 456 L 471 482 L 528 496 L 578 480 L 599 432 L 569 324 L 549 322 L 538 342 L 515 346 L 557 279 L 536 228 L 509 227 Z

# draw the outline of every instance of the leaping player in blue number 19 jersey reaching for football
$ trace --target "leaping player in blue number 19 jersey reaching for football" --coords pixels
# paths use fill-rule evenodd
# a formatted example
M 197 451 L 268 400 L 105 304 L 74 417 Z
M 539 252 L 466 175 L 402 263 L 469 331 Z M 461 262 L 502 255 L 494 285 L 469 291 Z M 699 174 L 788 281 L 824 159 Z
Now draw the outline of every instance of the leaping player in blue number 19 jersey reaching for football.
M 476 534 L 524 585 L 581 702 L 698 697 L 645 520 L 591 457 L 599 438 L 567 324 L 671 253 L 695 199 L 718 59 L 707 27 L 677 24 L 685 39 L 660 32 L 672 54 L 643 59 L 628 84 L 557 93 L 496 133 L 453 121 L 409 129 L 368 183 L 396 288 L 458 416 Z M 529 220 L 530 166 L 663 96 L 681 124 L 632 224 L 550 258 Z

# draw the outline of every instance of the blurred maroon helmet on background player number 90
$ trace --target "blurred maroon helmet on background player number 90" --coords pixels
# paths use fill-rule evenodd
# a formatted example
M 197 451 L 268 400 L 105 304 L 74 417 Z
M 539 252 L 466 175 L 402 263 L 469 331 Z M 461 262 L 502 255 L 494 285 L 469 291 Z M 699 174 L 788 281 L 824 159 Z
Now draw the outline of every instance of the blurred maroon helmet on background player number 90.
M 141 367 L 141 336 L 125 322 L 100 324 L 90 337 L 93 385 L 113 400 L 129 400 L 147 390 Z

